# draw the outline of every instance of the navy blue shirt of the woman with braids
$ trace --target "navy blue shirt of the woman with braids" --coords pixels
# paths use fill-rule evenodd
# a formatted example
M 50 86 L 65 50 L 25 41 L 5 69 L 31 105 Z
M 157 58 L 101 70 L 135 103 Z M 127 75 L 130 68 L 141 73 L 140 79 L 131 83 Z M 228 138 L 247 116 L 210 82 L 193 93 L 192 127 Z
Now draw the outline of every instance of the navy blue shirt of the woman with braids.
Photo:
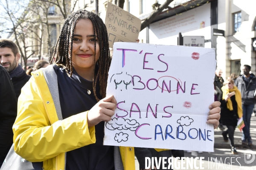
M 72 77 L 68 77 L 63 68 L 54 70 L 58 77 L 63 119 L 89 111 L 97 103 L 93 94 L 93 82 L 80 77 L 74 68 Z M 88 90 L 91 94 L 87 93 Z M 99 92 L 99 85 L 96 91 Z M 100 94 L 97 96 L 102 98 Z M 95 126 L 95 135 L 95 144 L 67 152 L 66 170 L 114 170 L 113 146 L 103 146 L 104 122 Z

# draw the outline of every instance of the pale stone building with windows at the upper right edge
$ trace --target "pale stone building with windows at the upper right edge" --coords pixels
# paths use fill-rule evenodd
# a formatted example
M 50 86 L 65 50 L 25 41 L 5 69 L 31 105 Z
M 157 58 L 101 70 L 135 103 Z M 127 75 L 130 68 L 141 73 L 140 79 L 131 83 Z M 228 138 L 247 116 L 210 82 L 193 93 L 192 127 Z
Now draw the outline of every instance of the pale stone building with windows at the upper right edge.
M 223 77 L 242 74 L 245 64 L 251 65 L 251 72 L 256 74 L 255 5 L 254 0 L 218 0 L 218 29 L 225 31 L 225 37 L 217 38 L 217 66 L 226 74 Z

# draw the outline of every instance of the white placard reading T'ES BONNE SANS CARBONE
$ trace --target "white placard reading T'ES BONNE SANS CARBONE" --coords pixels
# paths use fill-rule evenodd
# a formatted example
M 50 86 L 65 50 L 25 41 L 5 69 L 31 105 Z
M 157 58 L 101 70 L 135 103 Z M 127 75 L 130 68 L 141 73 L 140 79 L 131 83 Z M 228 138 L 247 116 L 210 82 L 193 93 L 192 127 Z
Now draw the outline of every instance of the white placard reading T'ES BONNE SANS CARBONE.
M 107 96 L 117 108 L 105 145 L 213 152 L 215 49 L 116 42 Z

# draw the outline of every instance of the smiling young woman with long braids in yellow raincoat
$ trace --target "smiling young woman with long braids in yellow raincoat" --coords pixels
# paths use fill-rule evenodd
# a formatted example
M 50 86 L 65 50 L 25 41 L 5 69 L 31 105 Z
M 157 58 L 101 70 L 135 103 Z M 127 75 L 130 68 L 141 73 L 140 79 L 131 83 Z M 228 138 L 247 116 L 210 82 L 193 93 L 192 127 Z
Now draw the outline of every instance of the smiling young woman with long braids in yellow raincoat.
M 111 59 L 100 17 L 85 10 L 68 16 L 53 57 L 22 89 L 15 152 L 44 170 L 135 170 L 133 147 L 103 146 L 116 99 L 106 96 Z M 210 106 L 215 127 L 219 105 Z

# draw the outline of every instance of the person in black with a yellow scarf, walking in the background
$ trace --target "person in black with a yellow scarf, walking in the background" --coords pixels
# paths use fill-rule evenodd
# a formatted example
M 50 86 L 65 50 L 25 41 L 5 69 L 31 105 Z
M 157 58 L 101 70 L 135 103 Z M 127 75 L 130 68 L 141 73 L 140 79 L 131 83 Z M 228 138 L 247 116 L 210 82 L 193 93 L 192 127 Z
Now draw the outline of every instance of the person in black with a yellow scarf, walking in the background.
M 222 136 L 225 142 L 228 142 L 228 138 L 230 139 L 231 152 L 238 154 L 234 144 L 234 132 L 238 119 L 243 115 L 241 93 L 234 85 L 232 79 L 226 80 L 225 86 L 223 86 L 221 90 L 223 91 L 221 118 L 223 125 L 227 126 L 227 130 L 222 132 Z

